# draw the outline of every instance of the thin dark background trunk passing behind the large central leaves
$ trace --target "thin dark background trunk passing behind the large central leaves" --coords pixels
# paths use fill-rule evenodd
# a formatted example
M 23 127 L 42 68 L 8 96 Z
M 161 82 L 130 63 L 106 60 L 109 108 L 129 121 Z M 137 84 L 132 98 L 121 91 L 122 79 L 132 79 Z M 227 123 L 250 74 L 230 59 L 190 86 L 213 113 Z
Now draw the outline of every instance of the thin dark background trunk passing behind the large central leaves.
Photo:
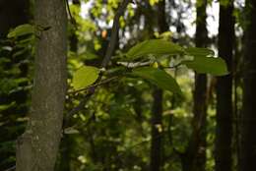
M 158 4 L 158 22 L 160 33 L 168 30 L 165 20 L 165 0 Z M 153 113 L 152 113 L 152 142 L 151 142 L 151 171 L 160 171 L 161 160 L 161 139 L 162 139 L 162 90 L 158 87 L 153 92 Z

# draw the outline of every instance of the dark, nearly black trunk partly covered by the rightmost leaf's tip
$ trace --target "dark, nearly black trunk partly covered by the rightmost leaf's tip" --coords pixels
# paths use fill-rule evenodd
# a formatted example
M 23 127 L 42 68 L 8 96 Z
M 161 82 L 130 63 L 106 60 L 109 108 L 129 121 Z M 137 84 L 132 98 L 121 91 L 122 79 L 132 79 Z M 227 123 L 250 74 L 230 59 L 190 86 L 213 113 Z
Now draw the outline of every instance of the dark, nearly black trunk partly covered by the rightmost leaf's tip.
M 230 171 L 232 166 L 232 51 L 234 41 L 233 1 L 220 3 L 219 56 L 229 75 L 217 78 L 216 171 Z

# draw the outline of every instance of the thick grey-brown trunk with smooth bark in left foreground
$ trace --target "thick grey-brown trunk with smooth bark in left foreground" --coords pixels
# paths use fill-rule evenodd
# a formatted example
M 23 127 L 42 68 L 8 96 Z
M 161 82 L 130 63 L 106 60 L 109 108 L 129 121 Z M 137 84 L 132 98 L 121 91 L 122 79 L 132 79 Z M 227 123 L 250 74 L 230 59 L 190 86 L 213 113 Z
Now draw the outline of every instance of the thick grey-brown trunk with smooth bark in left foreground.
M 30 121 L 17 144 L 17 171 L 53 171 L 66 93 L 65 1 L 35 0 L 35 71 Z M 48 28 L 42 30 L 39 28 Z

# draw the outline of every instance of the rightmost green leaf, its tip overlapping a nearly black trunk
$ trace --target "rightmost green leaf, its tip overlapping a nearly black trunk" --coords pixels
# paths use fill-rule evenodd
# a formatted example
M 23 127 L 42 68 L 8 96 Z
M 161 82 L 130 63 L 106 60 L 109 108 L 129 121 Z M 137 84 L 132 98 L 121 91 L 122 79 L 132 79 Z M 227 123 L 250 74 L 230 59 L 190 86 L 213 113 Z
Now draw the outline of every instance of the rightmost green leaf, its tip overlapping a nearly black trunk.
M 212 74 L 224 76 L 228 74 L 224 59 L 217 57 L 195 57 L 192 61 L 183 61 L 188 68 L 199 74 Z

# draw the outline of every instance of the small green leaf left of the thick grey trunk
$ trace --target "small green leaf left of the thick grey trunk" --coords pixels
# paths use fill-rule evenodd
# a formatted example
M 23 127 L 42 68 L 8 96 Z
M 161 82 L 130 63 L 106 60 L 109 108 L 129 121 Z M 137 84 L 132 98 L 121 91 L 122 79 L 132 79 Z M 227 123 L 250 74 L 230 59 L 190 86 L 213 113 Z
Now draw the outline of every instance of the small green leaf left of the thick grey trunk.
M 32 25 L 25 24 L 20 25 L 17 28 L 14 28 L 12 31 L 10 31 L 7 35 L 8 38 L 18 37 L 26 34 L 32 34 L 34 32 L 34 28 Z

